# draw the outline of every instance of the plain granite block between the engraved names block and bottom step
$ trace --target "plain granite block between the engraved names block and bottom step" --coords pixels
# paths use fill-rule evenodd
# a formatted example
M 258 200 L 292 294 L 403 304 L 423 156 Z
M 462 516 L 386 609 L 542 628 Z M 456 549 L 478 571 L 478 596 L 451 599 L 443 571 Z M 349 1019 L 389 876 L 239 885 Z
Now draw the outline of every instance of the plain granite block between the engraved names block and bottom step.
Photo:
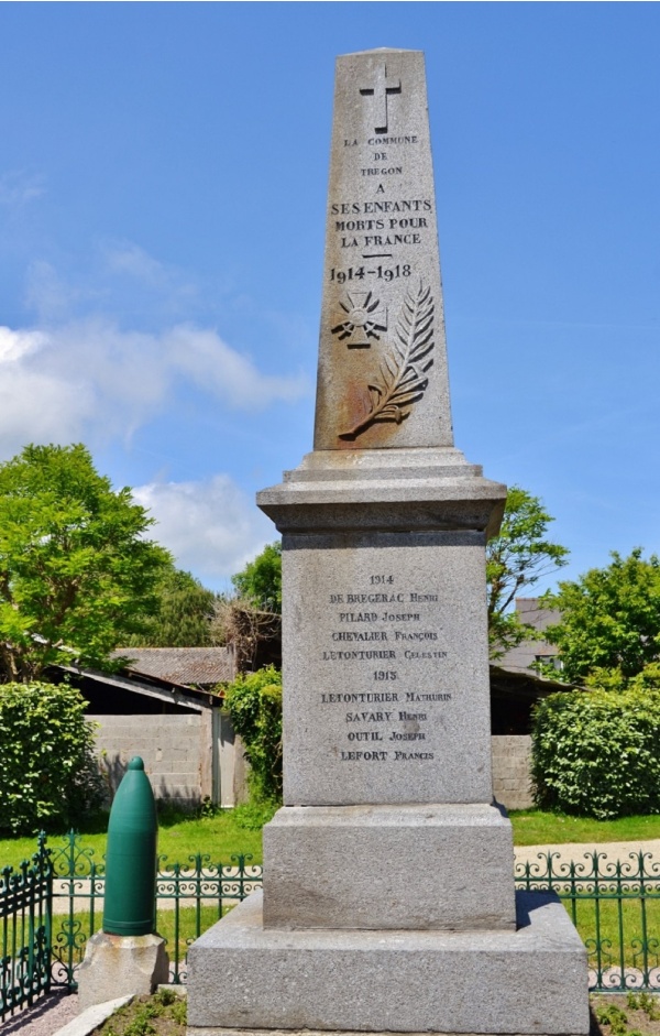
M 285 806 L 264 853 L 266 927 L 515 928 L 512 826 L 493 806 Z

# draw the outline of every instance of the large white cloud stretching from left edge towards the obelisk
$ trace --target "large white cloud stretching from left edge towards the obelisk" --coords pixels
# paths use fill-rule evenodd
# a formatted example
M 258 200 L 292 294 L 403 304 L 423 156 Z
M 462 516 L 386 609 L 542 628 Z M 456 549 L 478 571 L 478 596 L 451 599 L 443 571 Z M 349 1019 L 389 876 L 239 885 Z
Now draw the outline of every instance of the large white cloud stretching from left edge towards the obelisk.
M 25 443 L 127 439 L 193 384 L 230 410 L 263 410 L 308 392 L 305 378 L 262 374 L 215 330 L 158 335 L 105 318 L 0 329 L 0 457 Z

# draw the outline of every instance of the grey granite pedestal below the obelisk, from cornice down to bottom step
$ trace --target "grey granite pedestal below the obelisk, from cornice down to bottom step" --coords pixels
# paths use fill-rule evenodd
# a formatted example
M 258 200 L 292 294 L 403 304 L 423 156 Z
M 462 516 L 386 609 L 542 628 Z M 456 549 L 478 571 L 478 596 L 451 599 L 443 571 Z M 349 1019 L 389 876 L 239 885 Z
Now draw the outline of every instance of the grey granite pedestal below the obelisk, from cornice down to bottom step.
M 483 565 L 503 488 L 425 452 L 421 480 L 341 478 L 342 459 L 260 495 L 284 533 L 288 805 L 264 829 L 263 903 L 189 951 L 190 1036 L 588 1032 L 585 949 L 556 897 L 515 894 L 491 801 Z M 405 599 L 349 599 L 382 593 Z M 333 642 L 346 628 L 384 639 Z

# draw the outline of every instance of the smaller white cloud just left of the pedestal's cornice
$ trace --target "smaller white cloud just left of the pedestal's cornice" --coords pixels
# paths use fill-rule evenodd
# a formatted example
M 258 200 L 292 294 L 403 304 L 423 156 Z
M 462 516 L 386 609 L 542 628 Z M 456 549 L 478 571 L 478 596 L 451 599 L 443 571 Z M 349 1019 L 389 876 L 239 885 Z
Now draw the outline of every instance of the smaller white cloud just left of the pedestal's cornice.
M 276 537 L 273 525 L 227 475 L 199 482 L 152 482 L 133 489 L 156 524 L 151 535 L 211 588 L 240 571 Z

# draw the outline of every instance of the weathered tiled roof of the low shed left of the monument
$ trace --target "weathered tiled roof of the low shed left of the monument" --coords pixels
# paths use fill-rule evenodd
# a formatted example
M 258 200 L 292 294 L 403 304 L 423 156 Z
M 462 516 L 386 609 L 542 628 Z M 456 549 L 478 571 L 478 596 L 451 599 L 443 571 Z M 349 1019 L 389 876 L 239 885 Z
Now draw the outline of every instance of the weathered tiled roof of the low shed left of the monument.
M 194 687 L 234 679 L 233 653 L 228 647 L 122 647 L 127 669 Z

